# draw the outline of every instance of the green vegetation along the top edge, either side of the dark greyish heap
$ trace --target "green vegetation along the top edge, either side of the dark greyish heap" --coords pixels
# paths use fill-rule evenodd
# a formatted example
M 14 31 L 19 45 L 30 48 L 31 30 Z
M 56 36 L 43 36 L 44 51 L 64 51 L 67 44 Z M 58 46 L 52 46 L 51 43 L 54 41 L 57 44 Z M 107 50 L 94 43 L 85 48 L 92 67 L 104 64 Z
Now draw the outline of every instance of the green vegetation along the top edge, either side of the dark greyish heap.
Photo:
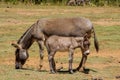
M 0 0 L 12 4 L 66 5 L 68 0 Z M 91 6 L 120 6 L 120 0 L 90 0 Z

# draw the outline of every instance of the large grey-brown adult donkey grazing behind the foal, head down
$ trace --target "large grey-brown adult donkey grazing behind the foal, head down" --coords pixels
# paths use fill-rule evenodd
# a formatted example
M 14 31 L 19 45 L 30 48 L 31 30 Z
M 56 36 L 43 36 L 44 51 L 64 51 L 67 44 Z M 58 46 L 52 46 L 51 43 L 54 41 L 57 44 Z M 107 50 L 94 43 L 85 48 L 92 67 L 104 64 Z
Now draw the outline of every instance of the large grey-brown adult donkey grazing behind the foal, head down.
M 40 48 L 40 58 L 43 59 L 43 41 L 48 37 L 52 35 L 83 37 L 86 35 L 86 41 L 88 43 L 92 33 L 94 34 L 94 45 L 96 51 L 98 51 L 98 41 L 95 35 L 93 24 L 90 20 L 81 17 L 40 19 L 21 36 L 17 43 L 12 43 L 12 45 L 17 48 L 15 51 L 15 68 L 22 68 L 29 56 L 27 50 L 35 40 L 38 42 Z M 89 48 L 89 43 L 88 46 L 85 47 Z M 87 55 L 84 55 L 83 53 L 84 51 L 82 51 L 82 60 L 77 70 L 80 70 L 81 68 L 84 69 Z

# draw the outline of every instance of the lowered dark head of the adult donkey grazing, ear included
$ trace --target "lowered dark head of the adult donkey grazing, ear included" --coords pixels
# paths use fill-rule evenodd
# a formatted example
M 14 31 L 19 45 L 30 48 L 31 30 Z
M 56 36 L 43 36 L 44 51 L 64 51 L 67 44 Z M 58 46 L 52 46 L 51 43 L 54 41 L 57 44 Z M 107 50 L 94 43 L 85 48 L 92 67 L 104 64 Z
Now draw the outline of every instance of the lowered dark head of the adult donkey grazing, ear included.
M 21 44 L 12 43 L 12 46 L 16 48 L 15 51 L 15 68 L 21 69 L 24 63 L 26 62 L 28 58 L 28 52 L 26 49 L 22 48 Z

